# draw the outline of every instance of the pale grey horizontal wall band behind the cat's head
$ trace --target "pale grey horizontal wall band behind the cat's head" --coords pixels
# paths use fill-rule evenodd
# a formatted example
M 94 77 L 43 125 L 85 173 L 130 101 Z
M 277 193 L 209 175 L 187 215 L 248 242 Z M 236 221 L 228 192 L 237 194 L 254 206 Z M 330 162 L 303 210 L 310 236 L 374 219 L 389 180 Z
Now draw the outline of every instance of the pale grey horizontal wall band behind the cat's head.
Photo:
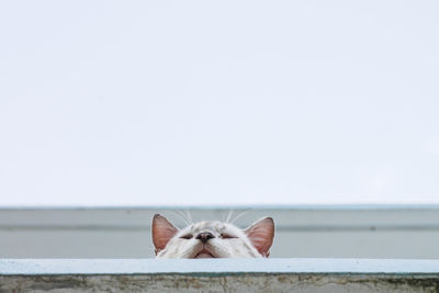
M 228 210 L 192 209 L 193 221 Z M 277 225 L 273 258 L 439 259 L 435 206 L 234 209 L 246 227 L 262 216 Z M 182 227 L 176 209 L 0 210 L 0 258 L 151 258 L 155 213 Z

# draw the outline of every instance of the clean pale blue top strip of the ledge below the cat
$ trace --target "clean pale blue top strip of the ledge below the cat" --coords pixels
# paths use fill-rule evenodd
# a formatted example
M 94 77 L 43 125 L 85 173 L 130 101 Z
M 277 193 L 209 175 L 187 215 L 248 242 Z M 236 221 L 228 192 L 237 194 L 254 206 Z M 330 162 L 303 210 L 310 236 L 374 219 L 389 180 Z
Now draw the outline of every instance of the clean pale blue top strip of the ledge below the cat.
M 0 259 L 0 275 L 97 275 L 97 274 L 214 274 L 319 273 L 339 275 L 362 273 L 409 274 L 437 278 L 439 260 L 410 259 Z M 48 279 L 47 279 L 48 280 Z M 436 279 L 437 280 L 437 279 Z M 46 279 L 44 280 L 46 281 Z M 209 284 L 209 282 L 207 282 Z

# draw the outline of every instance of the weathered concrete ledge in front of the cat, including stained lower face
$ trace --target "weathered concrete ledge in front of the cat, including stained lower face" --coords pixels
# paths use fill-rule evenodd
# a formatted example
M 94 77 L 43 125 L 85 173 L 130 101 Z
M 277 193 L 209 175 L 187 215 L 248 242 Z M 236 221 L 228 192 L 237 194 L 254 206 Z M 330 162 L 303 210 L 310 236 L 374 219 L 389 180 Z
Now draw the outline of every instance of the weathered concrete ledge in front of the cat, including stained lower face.
M 439 260 L 0 260 L 0 292 L 43 291 L 438 292 Z

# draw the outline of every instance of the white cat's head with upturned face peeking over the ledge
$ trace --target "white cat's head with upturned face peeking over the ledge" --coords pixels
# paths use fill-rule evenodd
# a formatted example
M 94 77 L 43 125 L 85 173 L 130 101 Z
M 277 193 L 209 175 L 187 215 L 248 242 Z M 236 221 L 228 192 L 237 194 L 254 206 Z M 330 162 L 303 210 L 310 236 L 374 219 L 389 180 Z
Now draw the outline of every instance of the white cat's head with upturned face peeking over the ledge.
M 151 225 L 156 258 L 268 258 L 274 238 L 271 217 L 246 229 L 218 221 L 204 221 L 178 229 L 156 214 Z

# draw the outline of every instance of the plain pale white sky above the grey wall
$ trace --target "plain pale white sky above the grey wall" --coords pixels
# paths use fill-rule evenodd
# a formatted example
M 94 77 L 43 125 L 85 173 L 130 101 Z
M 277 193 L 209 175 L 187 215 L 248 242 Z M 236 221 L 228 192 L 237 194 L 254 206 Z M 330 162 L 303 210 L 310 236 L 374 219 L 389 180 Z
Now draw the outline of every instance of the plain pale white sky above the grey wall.
M 1 1 L 0 205 L 439 203 L 438 1 Z

